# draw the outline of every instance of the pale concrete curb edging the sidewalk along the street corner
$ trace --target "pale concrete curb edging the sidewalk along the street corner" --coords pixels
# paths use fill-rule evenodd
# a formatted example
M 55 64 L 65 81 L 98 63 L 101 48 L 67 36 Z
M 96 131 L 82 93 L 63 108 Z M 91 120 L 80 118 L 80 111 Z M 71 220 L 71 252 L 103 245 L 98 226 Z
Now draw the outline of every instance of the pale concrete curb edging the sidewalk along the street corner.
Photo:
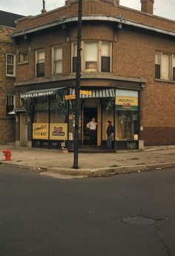
M 108 167 L 108 168 L 46 168 L 46 167 L 33 167 L 29 165 L 18 165 L 15 163 L 3 163 L 2 165 L 13 166 L 18 168 L 27 168 L 39 173 L 54 173 L 67 175 L 72 177 L 110 177 L 116 174 L 129 174 L 132 172 L 141 171 L 158 171 L 167 168 L 175 168 L 175 162 L 168 163 L 151 163 L 148 165 L 126 165 L 119 167 Z

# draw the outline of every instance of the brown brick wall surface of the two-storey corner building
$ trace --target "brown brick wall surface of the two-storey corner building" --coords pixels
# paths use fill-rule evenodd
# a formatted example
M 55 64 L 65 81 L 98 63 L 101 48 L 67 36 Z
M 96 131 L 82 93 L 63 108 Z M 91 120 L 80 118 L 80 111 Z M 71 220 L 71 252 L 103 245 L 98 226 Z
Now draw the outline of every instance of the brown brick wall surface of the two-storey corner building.
M 27 24 L 26 20 L 19 22 L 18 30 L 22 26 L 34 26 L 56 19 L 56 13 L 63 13 L 66 16 L 73 13 L 76 15 L 76 4 L 71 4 L 69 8 L 60 9 L 47 13 L 44 16 L 38 16 L 30 19 Z M 123 15 L 128 19 L 135 21 L 154 24 L 158 27 L 166 27 L 174 30 L 175 23 L 146 15 L 143 13 L 128 10 L 122 7 L 113 7 L 112 4 L 105 1 L 84 1 L 84 12 L 102 13 L 110 16 Z M 60 15 L 61 15 L 60 14 Z M 62 16 L 62 15 L 61 15 Z M 58 18 L 58 17 L 57 17 Z M 44 47 L 45 50 L 45 78 L 52 79 L 51 76 L 51 46 L 62 44 L 63 46 L 63 73 L 62 76 L 69 76 L 71 72 L 71 51 L 70 42 L 66 42 L 67 35 L 70 35 L 70 42 L 76 40 L 76 26 L 69 27 L 68 30 L 60 30 L 59 28 L 44 33 L 40 36 L 31 37 L 30 41 L 19 42 L 19 52 L 28 49 L 29 64 L 17 65 L 16 82 L 22 82 L 34 79 L 34 53 L 35 50 Z M 145 140 L 145 145 L 165 145 L 166 143 L 175 144 L 175 83 L 156 82 L 154 80 L 155 51 L 161 50 L 175 54 L 174 39 L 168 36 L 158 36 L 155 33 L 146 33 L 145 30 L 134 30 L 126 27 L 122 29 L 116 28 L 116 24 L 105 24 L 99 22 L 90 22 L 83 24 L 82 40 L 108 40 L 113 43 L 112 73 L 114 76 L 125 76 L 139 79 L 145 78 L 148 82 L 141 91 L 141 108 L 140 108 L 140 125 L 143 131 L 140 138 Z M 107 75 L 109 76 L 109 74 Z M 59 77 L 55 79 L 59 82 Z M 44 79 L 45 79 L 44 78 Z M 44 79 L 34 79 L 35 81 L 44 81 Z M 61 82 L 59 82 L 60 84 Z M 30 82 L 29 82 L 30 84 Z M 64 81 L 63 81 L 64 84 Z M 74 81 L 70 81 L 70 85 L 74 85 Z M 52 85 L 51 83 L 48 84 Z M 111 79 L 82 79 L 82 85 L 85 86 L 105 86 L 119 85 L 119 81 Z M 36 88 L 37 85 L 31 88 Z M 128 88 L 133 88 L 128 82 Z

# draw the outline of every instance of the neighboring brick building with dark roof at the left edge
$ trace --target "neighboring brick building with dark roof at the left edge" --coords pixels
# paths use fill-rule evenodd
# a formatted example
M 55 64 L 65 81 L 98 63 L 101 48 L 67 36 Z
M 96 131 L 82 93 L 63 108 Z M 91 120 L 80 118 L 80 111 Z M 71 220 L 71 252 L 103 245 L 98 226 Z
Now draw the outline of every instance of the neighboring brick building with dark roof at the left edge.
M 0 143 L 15 142 L 16 45 L 10 37 L 19 16 L 0 10 Z

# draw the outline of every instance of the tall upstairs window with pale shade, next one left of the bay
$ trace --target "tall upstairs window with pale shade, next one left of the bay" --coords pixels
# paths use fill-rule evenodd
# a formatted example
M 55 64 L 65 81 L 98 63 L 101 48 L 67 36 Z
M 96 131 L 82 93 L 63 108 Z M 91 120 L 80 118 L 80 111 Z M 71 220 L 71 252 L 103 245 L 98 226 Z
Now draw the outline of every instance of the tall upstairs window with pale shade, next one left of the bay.
M 53 47 L 53 74 L 62 73 L 62 47 Z

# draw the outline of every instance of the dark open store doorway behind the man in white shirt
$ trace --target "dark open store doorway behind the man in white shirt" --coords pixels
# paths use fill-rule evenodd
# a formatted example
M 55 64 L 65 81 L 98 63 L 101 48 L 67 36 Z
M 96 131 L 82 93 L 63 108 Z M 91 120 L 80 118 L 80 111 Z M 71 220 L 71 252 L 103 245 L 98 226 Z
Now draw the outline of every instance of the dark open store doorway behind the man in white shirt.
M 97 112 L 97 108 L 83 108 L 83 145 L 90 145 L 90 131 L 86 125 L 92 118 L 95 118 L 97 122 Z M 97 145 L 97 128 L 95 145 Z

